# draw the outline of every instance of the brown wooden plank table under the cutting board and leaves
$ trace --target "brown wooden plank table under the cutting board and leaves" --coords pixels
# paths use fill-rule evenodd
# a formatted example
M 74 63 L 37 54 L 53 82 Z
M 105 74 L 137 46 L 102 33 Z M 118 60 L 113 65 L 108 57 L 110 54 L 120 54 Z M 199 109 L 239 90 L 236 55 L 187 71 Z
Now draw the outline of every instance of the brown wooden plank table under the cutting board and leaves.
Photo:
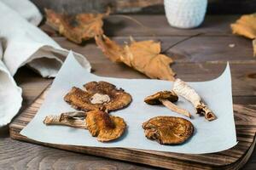
M 200 28 L 178 30 L 170 27 L 164 15 L 132 15 L 147 29 L 137 26 L 131 20 L 112 16 L 105 22 L 105 33 L 117 42 L 128 40 L 131 35 L 137 40 L 154 39 L 162 42 L 166 54 L 175 59 L 172 65 L 177 77 L 185 81 L 207 81 L 224 71 L 230 62 L 234 104 L 256 105 L 256 58 L 253 58 L 252 42 L 231 34 L 230 23 L 239 16 L 207 16 Z M 99 76 L 144 78 L 137 71 L 122 64 L 113 64 L 96 48 L 94 41 L 83 46 L 68 42 L 55 34 L 48 26 L 41 28 L 49 33 L 63 48 L 84 54 Z M 152 31 L 155 36 L 152 37 Z M 234 44 L 234 45 L 230 45 Z M 235 46 L 235 47 L 233 47 Z M 23 88 L 25 109 L 46 88 L 52 79 L 44 79 L 24 67 L 15 75 Z M 124 161 L 87 156 L 65 150 L 57 150 L 37 144 L 29 144 L 9 138 L 8 127 L 0 128 L 0 169 L 155 169 Z M 245 169 L 255 169 L 256 151 L 247 162 Z

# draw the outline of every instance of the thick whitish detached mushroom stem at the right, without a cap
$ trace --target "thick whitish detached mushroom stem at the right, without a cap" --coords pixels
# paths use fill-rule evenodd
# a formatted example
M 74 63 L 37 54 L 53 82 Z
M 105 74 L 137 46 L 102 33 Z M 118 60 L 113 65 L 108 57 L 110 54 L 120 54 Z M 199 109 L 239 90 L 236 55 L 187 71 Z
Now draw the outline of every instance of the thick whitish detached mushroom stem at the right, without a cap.
M 217 118 L 208 106 L 201 101 L 201 97 L 195 92 L 195 89 L 189 87 L 186 82 L 176 79 L 173 84 L 173 91 L 177 95 L 189 100 L 194 105 L 197 111 L 196 113 L 204 115 L 208 121 L 212 121 Z

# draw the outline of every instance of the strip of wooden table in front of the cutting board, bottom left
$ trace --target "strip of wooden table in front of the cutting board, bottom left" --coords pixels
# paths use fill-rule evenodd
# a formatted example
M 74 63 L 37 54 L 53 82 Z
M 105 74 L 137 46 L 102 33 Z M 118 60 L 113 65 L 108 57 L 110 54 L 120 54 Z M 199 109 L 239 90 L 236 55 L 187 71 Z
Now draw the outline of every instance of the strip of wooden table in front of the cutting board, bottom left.
M 0 169 L 155 169 L 99 156 L 86 156 L 14 139 L 1 139 Z

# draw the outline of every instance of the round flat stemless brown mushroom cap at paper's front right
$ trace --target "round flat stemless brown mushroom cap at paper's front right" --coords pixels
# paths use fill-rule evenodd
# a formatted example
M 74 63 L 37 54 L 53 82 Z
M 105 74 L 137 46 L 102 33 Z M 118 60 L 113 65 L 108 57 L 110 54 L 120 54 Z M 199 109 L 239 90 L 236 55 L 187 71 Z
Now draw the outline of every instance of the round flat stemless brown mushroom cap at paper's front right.
M 143 122 L 145 136 L 160 144 L 182 144 L 194 132 L 193 124 L 174 116 L 155 116 Z

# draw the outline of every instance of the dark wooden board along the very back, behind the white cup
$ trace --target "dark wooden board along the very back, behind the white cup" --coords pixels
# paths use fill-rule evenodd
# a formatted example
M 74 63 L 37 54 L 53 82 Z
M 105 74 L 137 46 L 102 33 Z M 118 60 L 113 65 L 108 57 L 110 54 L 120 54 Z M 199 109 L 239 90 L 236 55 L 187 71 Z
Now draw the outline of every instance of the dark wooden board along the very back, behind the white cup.
M 32 0 L 38 8 L 54 8 L 67 13 L 79 13 L 90 10 L 102 11 L 107 6 L 112 7 L 113 13 L 164 14 L 163 0 Z M 244 14 L 255 12 L 254 0 L 209 0 L 208 14 Z

